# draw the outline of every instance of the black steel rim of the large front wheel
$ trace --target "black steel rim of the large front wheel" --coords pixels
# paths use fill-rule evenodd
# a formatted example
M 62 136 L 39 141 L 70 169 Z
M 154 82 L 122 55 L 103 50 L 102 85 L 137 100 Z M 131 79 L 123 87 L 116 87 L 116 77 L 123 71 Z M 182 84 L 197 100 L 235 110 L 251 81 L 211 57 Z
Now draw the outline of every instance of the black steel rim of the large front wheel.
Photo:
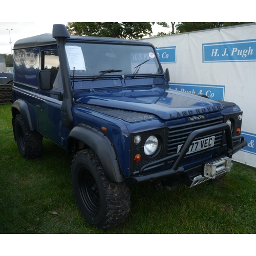
M 92 215 L 96 215 L 99 211 L 99 191 L 95 179 L 86 168 L 80 170 L 79 175 L 80 195 L 83 204 Z

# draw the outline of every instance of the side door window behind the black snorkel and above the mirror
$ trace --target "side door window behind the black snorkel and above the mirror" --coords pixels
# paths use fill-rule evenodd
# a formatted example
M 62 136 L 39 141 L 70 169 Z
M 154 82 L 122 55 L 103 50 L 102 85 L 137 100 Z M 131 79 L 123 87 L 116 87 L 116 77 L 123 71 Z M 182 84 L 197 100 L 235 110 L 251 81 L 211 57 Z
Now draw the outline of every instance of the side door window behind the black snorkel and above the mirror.
M 42 51 L 41 70 L 51 70 L 53 82 L 59 70 L 59 56 L 57 50 Z

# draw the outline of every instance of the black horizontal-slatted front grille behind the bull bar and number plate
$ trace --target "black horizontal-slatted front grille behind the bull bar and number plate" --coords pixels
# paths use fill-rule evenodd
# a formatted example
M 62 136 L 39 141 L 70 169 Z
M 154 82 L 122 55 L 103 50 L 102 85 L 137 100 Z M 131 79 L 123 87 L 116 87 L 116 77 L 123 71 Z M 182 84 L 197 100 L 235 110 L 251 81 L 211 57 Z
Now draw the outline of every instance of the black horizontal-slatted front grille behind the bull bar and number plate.
M 167 155 L 172 156 L 178 152 L 178 146 L 184 144 L 188 135 L 198 129 L 209 127 L 212 125 L 223 123 L 223 117 L 215 117 L 210 119 L 204 119 L 201 121 L 195 121 L 191 123 L 184 123 L 180 125 L 172 125 L 168 126 L 168 136 L 167 136 Z M 182 163 L 186 163 L 189 161 L 195 161 L 198 159 L 202 159 L 204 157 L 210 156 L 210 152 L 214 148 L 218 148 L 222 146 L 222 136 L 223 132 L 212 133 L 211 135 L 206 135 L 202 137 L 198 137 L 195 140 L 200 140 L 207 138 L 209 136 L 215 136 L 215 144 L 213 147 L 210 147 L 203 151 L 198 151 L 193 154 L 186 155 Z

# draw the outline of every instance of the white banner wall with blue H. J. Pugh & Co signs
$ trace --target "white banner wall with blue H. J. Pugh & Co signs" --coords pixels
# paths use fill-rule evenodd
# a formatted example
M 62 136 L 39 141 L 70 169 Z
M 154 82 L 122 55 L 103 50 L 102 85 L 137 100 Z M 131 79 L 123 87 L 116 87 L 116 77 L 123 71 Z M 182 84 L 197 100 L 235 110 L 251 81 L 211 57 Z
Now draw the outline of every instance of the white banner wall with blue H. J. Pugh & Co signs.
M 247 146 L 233 160 L 256 167 L 256 24 L 142 40 L 157 48 L 171 89 L 240 106 Z

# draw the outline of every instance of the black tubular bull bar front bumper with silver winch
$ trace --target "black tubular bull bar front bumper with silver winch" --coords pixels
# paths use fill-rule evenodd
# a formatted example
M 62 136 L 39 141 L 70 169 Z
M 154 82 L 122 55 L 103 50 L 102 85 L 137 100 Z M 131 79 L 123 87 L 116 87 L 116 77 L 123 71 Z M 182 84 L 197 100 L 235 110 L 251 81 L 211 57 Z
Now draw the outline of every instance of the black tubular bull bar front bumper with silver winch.
M 212 133 L 215 132 L 219 132 L 219 131 L 223 131 L 224 132 L 224 136 L 226 137 L 226 150 L 224 150 L 222 153 L 222 157 L 220 157 L 219 159 L 215 159 L 215 163 L 212 162 L 213 160 L 211 160 L 208 163 L 204 163 L 204 168 L 206 168 L 206 170 L 209 172 L 209 169 L 211 168 L 211 174 L 207 175 L 205 172 L 203 174 L 199 174 L 197 173 L 197 175 L 194 175 L 193 170 L 194 169 L 198 169 L 198 166 L 196 166 L 195 168 L 189 169 L 188 170 L 184 170 L 184 168 L 181 165 L 182 160 L 184 159 L 186 153 L 189 150 L 189 147 L 191 145 L 191 143 L 193 143 L 193 141 L 200 136 L 207 136 L 210 135 Z M 236 146 L 233 146 L 233 141 L 238 141 L 240 140 L 239 143 L 236 144 Z M 140 183 L 146 183 L 146 182 L 157 182 L 157 181 L 161 181 L 164 179 L 168 179 L 169 177 L 175 176 L 175 175 L 180 175 L 180 174 L 184 174 L 186 172 L 191 172 L 193 173 L 194 177 L 191 177 L 189 180 L 185 182 L 189 187 L 197 185 L 199 183 L 202 183 L 206 180 L 209 179 L 215 179 L 216 176 L 219 176 L 221 174 L 230 172 L 230 168 L 228 167 L 229 164 L 227 164 L 226 162 L 230 162 L 231 163 L 231 157 L 234 153 L 240 151 L 242 148 L 244 148 L 247 145 L 246 140 L 244 139 L 243 136 L 236 136 L 232 138 L 232 134 L 231 134 L 231 130 L 230 127 L 227 123 L 221 123 L 221 124 L 217 124 L 214 126 L 210 126 L 210 127 L 205 127 L 205 128 L 201 128 L 199 130 L 195 130 L 193 132 L 190 133 L 190 135 L 187 137 L 184 145 L 181 148 L 181 151 L 177 154 L 174 154 L 172 156 L 168 156 L 165 158 L 162 158 L 160 160 L 145 164 L 144 166 L 141 167 L 139 175 L 137 176 L 131 176 L 131 177 L 127 177 L 125 179 L 125 183 L 129 186 L 136 186 Z M 225 159 L 225 167 L 223 168 L 214 168 L 212 167 L 214 164 L 219 164 L 221 162 L 224 161 L 223 157 L 227 157 L 228 159 Z M 168 164 L 168 162 L 173 161 L 172 167 L 167 169 L 167 170 L 163 170 L 161 172 L 154 172 L 154 173 L 148 173 L 148 171 L 150 172 L 151 169 L 163 166 Z M 193 164 L 193 163 L 191 163 Z M 223 165 L 222 163 L 219 164 L 218 166 Z M 205 167 L 206 166 L 206 167 Z M 207 167 L 208 166 L 208 167 Z M 200 167 L 200 166 L 199 166 Z M 230 166 L 231 167 L 231 166 Z M 214 170 L 215 169 L 215 170 Z M 147 172 L 147 173 L 145 173 Z M 199 177 L 201 175 L 201 177 Z M 195 181 L 194 179 L 198 177 Z M 198 180 L 198 182 L 197 182 Z M 200 181 L 200 182 L 199 182 Z

